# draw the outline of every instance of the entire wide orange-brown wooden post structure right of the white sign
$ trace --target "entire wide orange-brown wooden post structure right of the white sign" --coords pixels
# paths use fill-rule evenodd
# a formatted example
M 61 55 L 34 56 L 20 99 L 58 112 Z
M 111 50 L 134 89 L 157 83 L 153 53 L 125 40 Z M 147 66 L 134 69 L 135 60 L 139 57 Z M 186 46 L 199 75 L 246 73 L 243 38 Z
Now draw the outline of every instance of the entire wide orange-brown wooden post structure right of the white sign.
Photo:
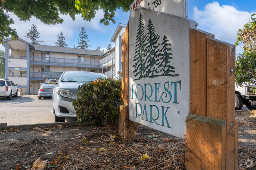
M 235 47 L 190 31 L 190 115 L 186 120 L 188 170 L 237 170 Z

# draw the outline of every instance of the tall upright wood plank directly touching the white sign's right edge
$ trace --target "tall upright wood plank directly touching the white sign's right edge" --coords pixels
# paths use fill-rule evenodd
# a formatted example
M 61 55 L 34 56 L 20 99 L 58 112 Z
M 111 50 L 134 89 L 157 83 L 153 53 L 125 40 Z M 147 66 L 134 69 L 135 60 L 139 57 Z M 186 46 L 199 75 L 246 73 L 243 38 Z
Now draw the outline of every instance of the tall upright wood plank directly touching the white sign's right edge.
M 206 33 L 190 29 L 190 113 L 206 116 Z

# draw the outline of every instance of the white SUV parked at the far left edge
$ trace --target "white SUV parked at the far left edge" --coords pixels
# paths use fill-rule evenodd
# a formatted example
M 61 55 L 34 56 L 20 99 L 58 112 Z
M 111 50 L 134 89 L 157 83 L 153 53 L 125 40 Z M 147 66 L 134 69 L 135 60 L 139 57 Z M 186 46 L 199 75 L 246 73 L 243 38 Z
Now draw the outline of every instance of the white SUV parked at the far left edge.
M 18 88 L 16 85 L 11 80 L 0 79 L 0 96 L 7 97 L 8 100 L 18 97 Z

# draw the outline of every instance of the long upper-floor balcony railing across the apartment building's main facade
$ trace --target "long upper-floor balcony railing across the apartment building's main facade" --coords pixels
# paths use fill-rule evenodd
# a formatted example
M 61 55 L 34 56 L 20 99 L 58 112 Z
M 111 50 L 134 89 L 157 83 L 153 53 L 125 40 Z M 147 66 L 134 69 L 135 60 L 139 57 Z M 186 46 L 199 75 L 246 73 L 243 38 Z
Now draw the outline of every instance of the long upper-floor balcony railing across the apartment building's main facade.
M 26 56 L 20 56 L 20 59 L 26 59 Z M 30 62 L 32 63 L 44 63 L 44 64 L 69 64 L 78 66 L 100 66 L 100 61 L 98 60 L 80 60 L 80 59 L 70 59 L 70 58 L 55 58 L 55 57 L 38 57 L 30 56 Z

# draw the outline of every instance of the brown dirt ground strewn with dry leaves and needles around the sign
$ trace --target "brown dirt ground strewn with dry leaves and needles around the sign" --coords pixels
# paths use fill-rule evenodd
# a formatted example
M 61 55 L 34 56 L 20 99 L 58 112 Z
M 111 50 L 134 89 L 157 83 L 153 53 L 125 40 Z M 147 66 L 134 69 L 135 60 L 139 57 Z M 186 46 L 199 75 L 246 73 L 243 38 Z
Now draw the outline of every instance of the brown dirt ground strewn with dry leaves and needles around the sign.
M 256 111 L 236 112 L 236 121 L 238 169 L 255 170 Z M 96 135 L 111 129 L 106 135 Z M 78 135 L 89 132 L 96 133 Z M 90 126 L 2 131 L 0 170 L 186 170 L 183 139 L 141 126 L 134 140 L 122 141 L 115 134 L 115 127 Z

